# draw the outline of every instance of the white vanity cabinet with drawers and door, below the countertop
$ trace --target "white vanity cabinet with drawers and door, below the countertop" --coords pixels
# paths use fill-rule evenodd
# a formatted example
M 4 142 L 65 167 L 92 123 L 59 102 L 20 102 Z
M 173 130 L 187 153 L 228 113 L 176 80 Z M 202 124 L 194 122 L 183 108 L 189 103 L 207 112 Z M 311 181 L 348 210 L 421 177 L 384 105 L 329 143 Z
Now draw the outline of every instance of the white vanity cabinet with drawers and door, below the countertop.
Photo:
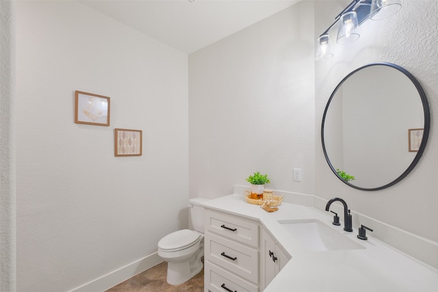
M 289 254 L 256 220 L 211 209 L 205 213 L 208 290 L 263 291 L 289 261 Z

